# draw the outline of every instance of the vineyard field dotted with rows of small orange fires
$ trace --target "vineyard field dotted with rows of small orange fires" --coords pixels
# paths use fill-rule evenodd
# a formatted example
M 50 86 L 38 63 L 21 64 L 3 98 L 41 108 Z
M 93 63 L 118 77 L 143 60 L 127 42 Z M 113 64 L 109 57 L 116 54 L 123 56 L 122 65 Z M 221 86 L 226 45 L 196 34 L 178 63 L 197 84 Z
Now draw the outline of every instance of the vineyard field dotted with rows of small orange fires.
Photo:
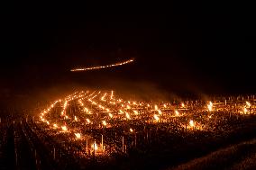
M 253 139 L 255 125 L 253 95 L 157 103 L 76 92 L 2 123 L 3 156 L 29 169 L 160 169 Z

